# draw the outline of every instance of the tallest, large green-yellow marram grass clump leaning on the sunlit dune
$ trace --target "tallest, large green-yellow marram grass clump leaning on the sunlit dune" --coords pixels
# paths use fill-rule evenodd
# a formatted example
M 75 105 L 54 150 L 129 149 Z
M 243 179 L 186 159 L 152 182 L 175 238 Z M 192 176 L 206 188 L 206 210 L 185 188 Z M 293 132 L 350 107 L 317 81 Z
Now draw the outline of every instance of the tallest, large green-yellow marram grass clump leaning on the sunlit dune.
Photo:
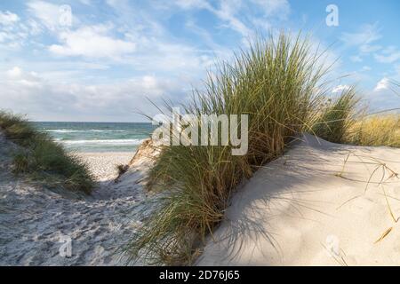
M 148 264 L 192 264 L 207 235 L 220 224 L 236 185 L 266 162 L 284 154 L 302 132 L 323 132 L 327 112 L 323 54 L 307 40 L 281 34 L 255 40 L 251 48 L 223 62 L 204 91 L 195 91 L 188 114 L 249 114 L 249 148 L 231 155 L 231 146 L 164 146 L 151 170 L 149 189 L 164 188 L 153 214 L 126 246 L 130 260 Z M 334 108 L 352 112 L 354 90 Z M 348 102 L 351 101 L 350 102 Z M 348 114 L 340 114 L 347 120 Z M 315 125 L 323 125 L 315 129 Z M 331 125 L 342 137 L 347 123 Z M 155 186 L 157 185 L 157 186 Z

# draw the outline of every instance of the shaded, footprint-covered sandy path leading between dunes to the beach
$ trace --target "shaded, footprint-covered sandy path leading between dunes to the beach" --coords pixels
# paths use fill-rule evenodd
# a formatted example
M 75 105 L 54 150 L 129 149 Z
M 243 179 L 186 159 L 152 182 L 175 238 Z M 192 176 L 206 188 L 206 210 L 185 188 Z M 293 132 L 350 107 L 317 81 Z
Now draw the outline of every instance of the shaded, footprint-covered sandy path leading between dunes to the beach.
M 12 176 L 11 147 L 0 135 L 0 264 L 124 264 L 117 249 L 140 225 L 146 202 L 140 180 L 148 164 L 133 165 L 118 184 L 103 180 L 90 199 L 76 201 Z M 88 161 L 100 176 L 108 171 L 100 163 L 107 160 L 110 166 L 130 158 L 95 154 Z M 60 248 L 68 255 L 68 238 L 72 255 L 62 256 Z

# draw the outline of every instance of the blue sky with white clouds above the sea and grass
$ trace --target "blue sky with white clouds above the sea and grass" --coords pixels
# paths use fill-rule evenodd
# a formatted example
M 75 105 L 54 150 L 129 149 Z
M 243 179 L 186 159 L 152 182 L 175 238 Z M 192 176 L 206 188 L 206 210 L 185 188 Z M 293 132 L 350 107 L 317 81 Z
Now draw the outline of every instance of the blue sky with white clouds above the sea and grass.
M 333 8 L 332 8 L 333 5 Z M 0 108 L 35 121 L 143 122 L 248 39 L 302 33 L 371 111 L 400 107 L 400 1 L 1 0 Z

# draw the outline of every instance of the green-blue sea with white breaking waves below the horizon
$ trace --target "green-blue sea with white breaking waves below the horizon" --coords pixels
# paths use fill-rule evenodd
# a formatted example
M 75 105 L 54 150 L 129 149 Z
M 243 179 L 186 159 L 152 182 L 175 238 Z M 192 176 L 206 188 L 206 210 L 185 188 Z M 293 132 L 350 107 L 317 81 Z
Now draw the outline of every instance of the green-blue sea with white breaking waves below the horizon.
M 140 122 L 33 122 L 74 152 L 134 152 L 155 129 Z

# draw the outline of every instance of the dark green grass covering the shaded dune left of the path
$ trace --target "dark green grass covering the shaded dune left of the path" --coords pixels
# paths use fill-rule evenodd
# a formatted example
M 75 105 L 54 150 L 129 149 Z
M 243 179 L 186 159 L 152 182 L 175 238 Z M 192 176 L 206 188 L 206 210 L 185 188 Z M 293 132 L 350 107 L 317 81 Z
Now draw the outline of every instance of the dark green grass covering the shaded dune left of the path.
M 74 154 L 36 130 L 19 115 L 0 112 L 0 130 L 20 149 L 13 153 L 12 170 L 49 188 L 64 188 L 75 193 L 92 192 L 94 179 L 88 167 Z

